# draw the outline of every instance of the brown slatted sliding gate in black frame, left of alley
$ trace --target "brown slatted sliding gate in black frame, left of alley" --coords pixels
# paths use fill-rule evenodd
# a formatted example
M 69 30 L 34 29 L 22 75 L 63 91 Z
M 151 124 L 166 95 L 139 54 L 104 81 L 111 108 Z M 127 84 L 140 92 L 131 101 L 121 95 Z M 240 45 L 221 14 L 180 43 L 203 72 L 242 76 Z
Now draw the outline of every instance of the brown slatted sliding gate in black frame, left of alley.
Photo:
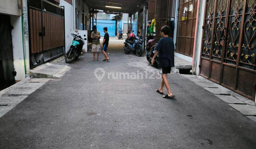
M 64 54 L 64 9 L 47 0 L 28 0 L 30 65 L 36 67 Z

